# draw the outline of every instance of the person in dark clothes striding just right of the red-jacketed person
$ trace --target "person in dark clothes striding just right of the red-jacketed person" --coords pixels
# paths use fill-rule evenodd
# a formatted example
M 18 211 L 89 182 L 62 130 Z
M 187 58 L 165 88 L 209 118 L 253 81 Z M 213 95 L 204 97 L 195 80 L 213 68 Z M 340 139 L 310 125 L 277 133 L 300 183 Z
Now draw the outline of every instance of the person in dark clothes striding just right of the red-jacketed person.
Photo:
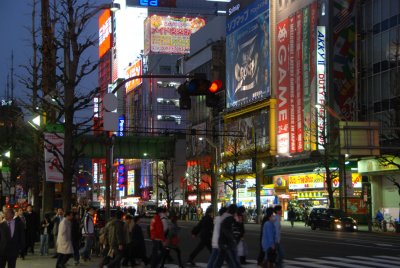
M 193 228 L 192 236 L 199 236 L 200 241 L 197 247 L 190 253 L 189 260 L 187 261 L 191 265 L 196 265 L 194 263 L 194 258 L 200 253 L 205 247 L 211 252 L 211 238 L 212 230 L 214 228 L 214 221 L 212 217 L 212 207 L 208 207 L 206 210 L 206 215 L 199 221 L 199 223 Z

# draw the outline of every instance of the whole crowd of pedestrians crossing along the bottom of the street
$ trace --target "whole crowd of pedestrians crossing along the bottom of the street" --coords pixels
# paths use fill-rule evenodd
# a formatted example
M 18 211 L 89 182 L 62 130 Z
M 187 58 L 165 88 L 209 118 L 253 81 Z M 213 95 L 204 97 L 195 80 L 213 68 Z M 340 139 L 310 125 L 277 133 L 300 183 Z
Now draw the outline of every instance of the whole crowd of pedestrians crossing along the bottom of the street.
M 49 254 L 54 248 L 56 268 L 66 267 L 73 259 L 75 265 L 91 261 L 91 254 L 102 256 L 100 267 L 133 267 L 139 263 L 151 268 L 163 268 L 165 263 L 177 260 L 179 267 L 194 266 L 197 255 L 207 250 L 207 267 L 219 268 L 224 263 L 238 268 L 247 264 L 247 243 L 245 233 L 244 207 L 230 205 L 222 207 L 213 215 L 209 207 L 191 230 L 197 240 L 186 261 L 180 248 L 181 227 L 179 215 L 174 210 L 157 208 L 151 219 L 148 235 L 151 240 L 150 256 L 147 255 L 141 217 L 135 211 L 117 209 L 102 228 L 96 225 L 94 207 L 79 204 L 71 211 L 57 208 L 53 214 L 46 214 L 39 220 L 31 205 L 25 210 L 3 207 L 0 218 L 0 268 L 13 268 L 16 259 L 25 259 L 34 253 L 35 242 L 40 241 L 40 255 Z M 282 207 L 268 208 L 262 219 L 260 234 L 259 267 L 280 267 L 284 251 L 280 243 Z M 40 238 L 40 239 L 39 239 Z M 171 256 L 173 255 L 173 256 Z

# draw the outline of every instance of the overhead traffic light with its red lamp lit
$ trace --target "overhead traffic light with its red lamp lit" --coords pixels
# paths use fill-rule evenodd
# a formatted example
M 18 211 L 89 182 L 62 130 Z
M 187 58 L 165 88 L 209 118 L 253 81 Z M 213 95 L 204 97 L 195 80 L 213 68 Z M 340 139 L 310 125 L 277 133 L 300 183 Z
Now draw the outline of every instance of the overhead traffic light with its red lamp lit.
M 218 96 L 216 93 L 221 89 L 222 82 L 220 80 L 210 81 L 203 78 L 195 78 L 187 81 L 178 87 L 179 107 L 182 110 L 191 108 L 190 96 L 206 96 L 206 105 L 214 107 L 218 104 Z

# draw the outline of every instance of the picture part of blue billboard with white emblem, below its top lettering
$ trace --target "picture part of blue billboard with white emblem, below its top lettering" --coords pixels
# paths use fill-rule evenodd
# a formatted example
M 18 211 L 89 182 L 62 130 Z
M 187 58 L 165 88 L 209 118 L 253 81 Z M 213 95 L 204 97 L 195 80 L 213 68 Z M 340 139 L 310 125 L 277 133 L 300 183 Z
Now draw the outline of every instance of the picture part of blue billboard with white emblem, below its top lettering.
M 227 37 L 227 107 L 238 107 L 270 95 L 268 14 Z

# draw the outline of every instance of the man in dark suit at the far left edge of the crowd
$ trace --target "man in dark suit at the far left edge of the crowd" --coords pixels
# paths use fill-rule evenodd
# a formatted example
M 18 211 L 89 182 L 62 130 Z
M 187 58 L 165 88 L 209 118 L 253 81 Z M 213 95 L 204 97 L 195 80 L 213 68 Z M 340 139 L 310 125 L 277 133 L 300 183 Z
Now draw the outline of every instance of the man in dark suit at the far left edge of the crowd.
M 19 252 L 25 248 L 25 230 L 14 210 L 7 208 L 5 221 L 0 223 L 0 267 L 15 268 Z

